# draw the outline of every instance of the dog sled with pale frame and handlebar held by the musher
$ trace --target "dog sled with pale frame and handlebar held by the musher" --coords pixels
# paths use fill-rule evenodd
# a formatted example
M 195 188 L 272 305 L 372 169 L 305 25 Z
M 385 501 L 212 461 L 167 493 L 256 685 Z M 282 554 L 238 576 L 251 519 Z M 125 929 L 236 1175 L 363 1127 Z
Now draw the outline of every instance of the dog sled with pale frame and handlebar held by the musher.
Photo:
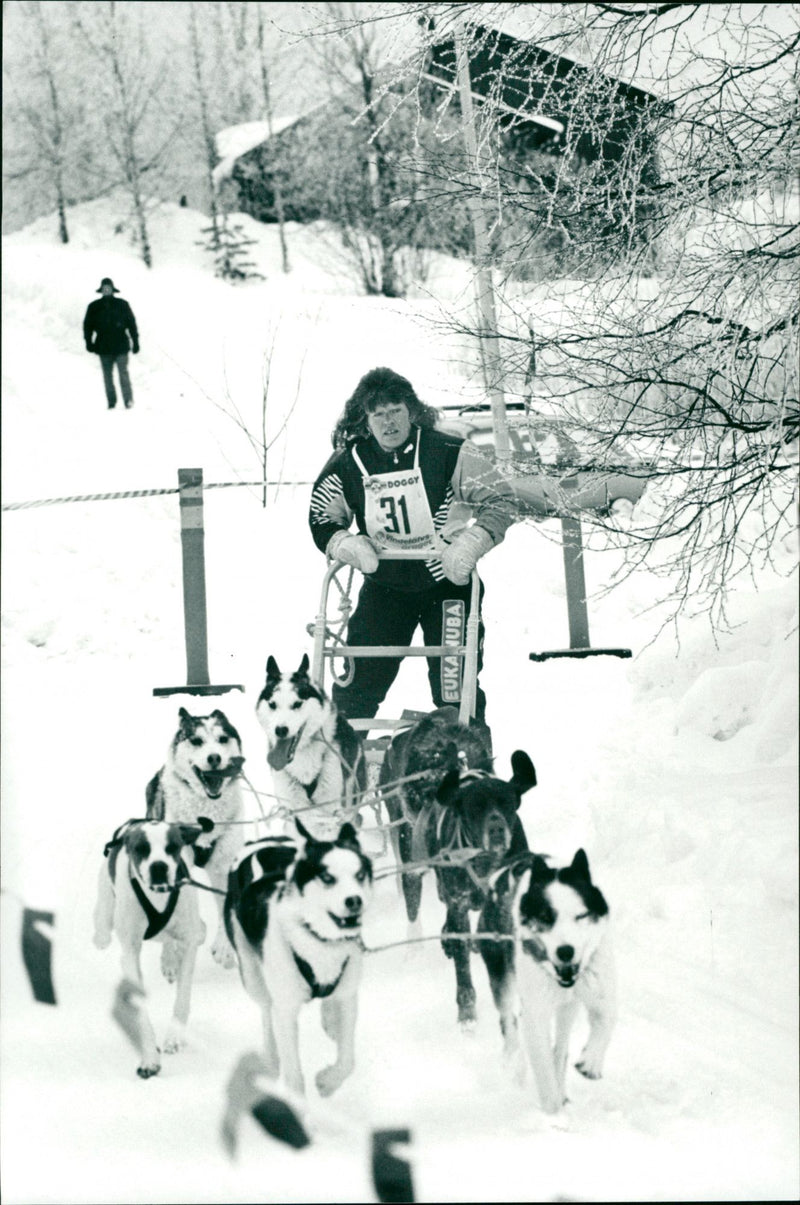
M 381 552 L 381 560 L 425 560 L 430 552 L 393 549 Z M 347 686 L 353 678 L 354 662 L 359 657 L 431 657 L 441 659 L 449 670 L 449 677 L 457 683 L 453 694 L 458 695 L 459 721 L 467 724 L 475 716 L 478 676 L 478 624 L 481 581 L 472 570 L 470 613 L 465 624 L 453 627 L 453 642 L 442 645 L 348 645 L 346 642 L 347 625 L 353 610 L 352 590 L 357 570 L 341 560 L 333 560 L 328 566 L 322 586 L 319 610 L 308 633 L 313 636 L 312 681 L 328 689 L 327 680 Z M 337 602 L 334 611 L 334 590 Z M 447 637 L 446 637 L 447 639 Z M 455 705 L 453 699 L 453 705 Z M 377 778 L 386 751 L 396 731 L 408 728 L 423 713 L 404 710 L 394 719 L 349 718 L 351 725 L 364 734 L 364 751 L 370 777 Z M 373 769 L 378 768 L 378 769 Z

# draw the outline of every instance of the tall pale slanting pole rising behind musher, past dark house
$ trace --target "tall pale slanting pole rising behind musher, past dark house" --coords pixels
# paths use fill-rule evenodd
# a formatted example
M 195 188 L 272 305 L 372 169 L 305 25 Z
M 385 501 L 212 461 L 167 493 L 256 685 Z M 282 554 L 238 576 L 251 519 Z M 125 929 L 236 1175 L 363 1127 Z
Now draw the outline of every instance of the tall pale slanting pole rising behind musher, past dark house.
M 481 324 L 481 355 L 487 390 L 492 401 L 492 425 L 494 429 L 494 449 L 498 460 L 510 460 L 508 425 L 506 423 L 506 400 L 501 387 L 502 369 L 498 354 L 498 319 L 494 306 L 494 284 L 492 281 L 492 263 L 489 258 L 489 234 L 483 212 L 483 174 L 478 153 L 478 140 L 475 130 L 475 110 L 472 107 L 472 83 L 470 80 L 470 61 L 464 29 L 455 27 L 455 58 L 458 71 L 458 90 L 461 104 L 461 129 L 467 160 L 475 165 L 477 194 L 467 195 L 467 205 L 472 218 L 475 235 L 475 258 L 477 261 L 476 290 L 478 302 L 478 321 Z

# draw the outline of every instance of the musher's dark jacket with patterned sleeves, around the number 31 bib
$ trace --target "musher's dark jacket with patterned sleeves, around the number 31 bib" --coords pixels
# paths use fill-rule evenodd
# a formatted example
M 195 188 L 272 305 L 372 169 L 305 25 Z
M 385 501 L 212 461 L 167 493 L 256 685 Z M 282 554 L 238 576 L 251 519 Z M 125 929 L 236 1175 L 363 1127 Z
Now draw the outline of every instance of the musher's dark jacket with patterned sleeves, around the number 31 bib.
M 324 552 L 336 531 L 353 521 L 364 525 L 364 477 L 353 459 L 353 447 L 367 472 L 392 472 L 413 468 L 417 428 L 396 452 L 384 452 L 371 435 L 335 452 L 314 482 L 308 525 L 317 547 Z M 419 437 L 419 469 L 437 533 L 463 527 L 470 516 L 500 543 L 517 517 L 513 494 L 494 464 L 469 440 L 423 428 Z M 382 560 L 372 580 L 398 590 L 422 590 L 445 581 L 441 562 Z

